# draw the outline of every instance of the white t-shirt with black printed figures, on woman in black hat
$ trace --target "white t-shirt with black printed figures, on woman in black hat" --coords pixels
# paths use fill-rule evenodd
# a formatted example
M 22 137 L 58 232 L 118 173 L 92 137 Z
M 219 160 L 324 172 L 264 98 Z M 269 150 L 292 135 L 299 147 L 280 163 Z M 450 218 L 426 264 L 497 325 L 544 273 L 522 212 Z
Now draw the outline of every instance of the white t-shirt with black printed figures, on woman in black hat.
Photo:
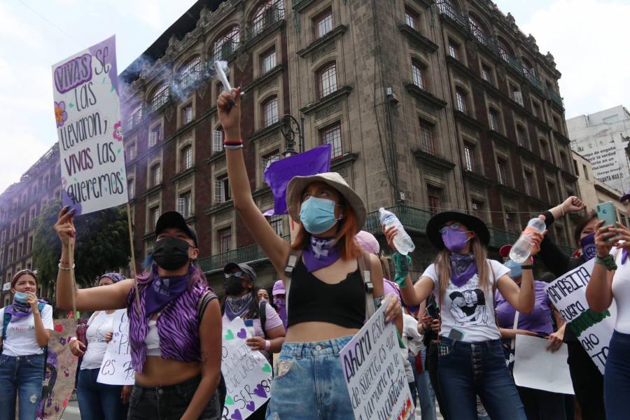
M 510 272 L 495 260 L 486 260 L 490 263 L 494 275 L 489 275 L 489 290 L 479 288 L 479 276 L 475 274 L 463 286 L 457 287 L 451 281 L 444 290 L 444 296 L 440 301 L 440 281 L 437 279 L 435 265 L 431 264 L 422 276 L 433 280 L 433 295 L 435 300 L 441 303 L 442 328 L 440 335 L 448 337 L 452 329 L 463 333 L 460 338 L 464 342 L 482 342 L 489 339 L 498 339 L 500 332 L 494 321 L 494 293 L 493 283 L 501 276 Z

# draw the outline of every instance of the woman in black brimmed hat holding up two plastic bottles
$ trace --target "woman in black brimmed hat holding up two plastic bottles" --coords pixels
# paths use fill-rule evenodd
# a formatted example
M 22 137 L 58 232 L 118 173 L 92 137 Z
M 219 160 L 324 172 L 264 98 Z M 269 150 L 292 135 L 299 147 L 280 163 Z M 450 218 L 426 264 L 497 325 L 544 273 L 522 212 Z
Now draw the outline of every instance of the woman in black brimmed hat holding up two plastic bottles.
M 395 228 L 387 228 L 395 249 Z M 420 304 L 433 293 L 442 308 L 437 377 L 449 419 L 477 419 L 479 395 L 491 419 L 526 419 L 514 380 L 505 366 L 503 346 L 494 314 L 496 289 L 522 313 L 534 304 L 531 256 L 542 234 L 531 233 L 531 255 L 521 266 L 521 287 L 510 269 L 487 258 L 490 232 L 485 223 L 458 211 L 433 216 L 426 225 L 428 240 L 440 251 L 412 283 L 402 283 L 406 304 Z

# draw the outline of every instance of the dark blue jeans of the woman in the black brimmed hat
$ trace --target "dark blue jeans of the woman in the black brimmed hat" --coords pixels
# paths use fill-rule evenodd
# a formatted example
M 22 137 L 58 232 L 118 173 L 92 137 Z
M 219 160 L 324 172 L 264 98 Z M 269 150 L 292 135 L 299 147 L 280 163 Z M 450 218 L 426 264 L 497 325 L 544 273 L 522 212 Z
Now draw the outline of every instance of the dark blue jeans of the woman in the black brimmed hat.
M 440 337 L 437 378 L 449 419 L 476 420 L 477 397 L 491 419 L 526 420 L 500 339 L 461 342 Z

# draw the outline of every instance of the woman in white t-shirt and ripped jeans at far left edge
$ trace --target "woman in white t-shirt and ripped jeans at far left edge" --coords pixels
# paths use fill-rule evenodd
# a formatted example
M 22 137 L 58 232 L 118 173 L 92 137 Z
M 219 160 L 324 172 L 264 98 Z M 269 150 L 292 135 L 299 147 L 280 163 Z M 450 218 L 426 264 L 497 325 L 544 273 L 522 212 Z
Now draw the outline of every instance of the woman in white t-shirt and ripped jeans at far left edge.
M 37 276 L 29 269 L 11 280 L 13 303 L 0 309 L 0 420 L 35 418 L 45 367 L 44 347 L 52 332 L 52 307 L 37 299 Z

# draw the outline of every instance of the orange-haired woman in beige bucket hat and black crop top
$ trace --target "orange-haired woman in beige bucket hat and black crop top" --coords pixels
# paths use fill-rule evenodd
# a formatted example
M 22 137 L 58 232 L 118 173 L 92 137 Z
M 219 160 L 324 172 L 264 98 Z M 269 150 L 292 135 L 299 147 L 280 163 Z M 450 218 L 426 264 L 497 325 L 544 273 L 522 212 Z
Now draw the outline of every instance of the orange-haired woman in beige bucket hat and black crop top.
M 339 350 L 363 326 L 370 305 L 374 308 L 366 293 L 372 283 L 364 283 L 362 272 L 372 273 L 373 297 L 380 302 L 383 296 L 378 258 L 363 260 L 353 240 L 365 223 L 365 205 L 337 173 L 296 176 L 288 183 L 286 204 L 297 236 L 288 244 L 276 235 L 251 195 L 240 101 L 238 89 L 223 92 L 217 101 L 234 205 L 276 270 L 290 274 L 284 279 L 288 331 L 275 365 L 267 419 L 351 419 Z M 400 330 L 400 303 L 388 302 L 386 320 L 395 318 Z

